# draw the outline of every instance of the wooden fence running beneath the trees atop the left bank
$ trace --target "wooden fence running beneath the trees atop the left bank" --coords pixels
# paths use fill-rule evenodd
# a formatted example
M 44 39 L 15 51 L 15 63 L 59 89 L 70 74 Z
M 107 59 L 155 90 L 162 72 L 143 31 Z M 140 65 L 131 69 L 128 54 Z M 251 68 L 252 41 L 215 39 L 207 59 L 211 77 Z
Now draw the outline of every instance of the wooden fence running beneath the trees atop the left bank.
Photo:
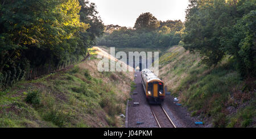
M 7 86 L 13 86 L 15 82 L 18 81 L 28 81 L 31 79 L 35 79 L 41 77 L 43 75 L 47 75 L 49 73 L 55 73 L 57 71 L 63 70 L 68 66 L 77 64 L 81 61 L 86 60 L 90 55 L 86 54 L 84 59 L 77 58 L 75 60 L 68 60 L 59 63 L 58 65 L 46 64 L 37 68 L 31 68 L 28 70 L 22 70 L 19 67 L 13 68 L 12 70 L 4 71 L 0 73 L 0 89 L 5 88 Z

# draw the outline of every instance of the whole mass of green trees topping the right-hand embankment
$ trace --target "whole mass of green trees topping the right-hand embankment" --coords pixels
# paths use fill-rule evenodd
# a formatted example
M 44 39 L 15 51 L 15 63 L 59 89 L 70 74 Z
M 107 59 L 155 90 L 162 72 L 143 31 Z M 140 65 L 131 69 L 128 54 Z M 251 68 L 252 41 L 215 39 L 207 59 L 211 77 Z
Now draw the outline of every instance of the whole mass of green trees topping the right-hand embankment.
M 256 1 L 189 2 L 184 48 L 200 52 L 203 62 L 210 66 L 229 56 L 242 77 L 255 77 Z

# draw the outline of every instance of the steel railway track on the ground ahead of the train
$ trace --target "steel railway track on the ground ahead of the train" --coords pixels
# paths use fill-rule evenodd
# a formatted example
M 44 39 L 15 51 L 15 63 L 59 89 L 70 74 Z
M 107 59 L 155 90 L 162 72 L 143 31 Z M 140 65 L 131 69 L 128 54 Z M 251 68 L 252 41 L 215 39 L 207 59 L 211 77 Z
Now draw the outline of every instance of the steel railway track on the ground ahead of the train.
M 162 105 L 151 105 L 150 109 L 159 128 L 176 128 Z

